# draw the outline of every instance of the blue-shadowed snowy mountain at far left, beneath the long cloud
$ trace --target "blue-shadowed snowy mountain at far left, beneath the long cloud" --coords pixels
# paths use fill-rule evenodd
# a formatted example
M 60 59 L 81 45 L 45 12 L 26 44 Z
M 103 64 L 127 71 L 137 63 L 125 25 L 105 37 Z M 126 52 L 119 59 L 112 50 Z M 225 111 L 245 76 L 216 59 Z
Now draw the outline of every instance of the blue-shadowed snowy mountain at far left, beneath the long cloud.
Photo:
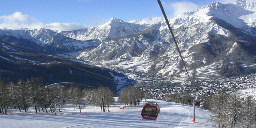
M 79 51 L 87 47 L 96 47 L 101 43 L 99 40 L 74 40 L 63 36 L 62 34 L 54 32 L 53 30 L 43 28 L 32 30 L 27 28 L 22 28 L 18 30 L 0 29 L 0 33 L 2 35 L 8 35 L 15 38 L 30 40 L 37 43 L 40 46 L 63 52 Z M 1 40 L 5 39 L 2 38 Z

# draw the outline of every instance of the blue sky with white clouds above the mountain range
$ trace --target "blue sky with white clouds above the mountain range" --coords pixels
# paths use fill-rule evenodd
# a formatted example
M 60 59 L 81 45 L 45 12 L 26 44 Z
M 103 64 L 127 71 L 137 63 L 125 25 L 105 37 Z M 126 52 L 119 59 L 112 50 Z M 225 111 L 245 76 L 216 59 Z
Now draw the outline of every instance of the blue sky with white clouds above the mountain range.
M 167 17 L 199 9 L 217 0 L 161 0 Z M 218 0 L 233 3 L 236 0 Z M 256 0 L 250 0 L 256 1 Z M 76 30 L 99 26 L 112 17 L 125 22 L 163 17 L 157 0 L 1 0 L 0 29 Z

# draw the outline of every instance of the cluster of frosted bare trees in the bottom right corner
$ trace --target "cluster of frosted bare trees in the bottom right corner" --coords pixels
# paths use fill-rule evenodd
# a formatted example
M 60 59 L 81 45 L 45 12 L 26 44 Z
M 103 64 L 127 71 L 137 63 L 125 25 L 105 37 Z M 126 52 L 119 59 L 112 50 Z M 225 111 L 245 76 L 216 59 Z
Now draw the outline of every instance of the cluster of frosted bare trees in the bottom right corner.
M 209 98 L 209 119 L 219 128 L 255 128 L 256 100 L 253 96 L 241 95 L 239 91 L 230 94 L 219 93 Z

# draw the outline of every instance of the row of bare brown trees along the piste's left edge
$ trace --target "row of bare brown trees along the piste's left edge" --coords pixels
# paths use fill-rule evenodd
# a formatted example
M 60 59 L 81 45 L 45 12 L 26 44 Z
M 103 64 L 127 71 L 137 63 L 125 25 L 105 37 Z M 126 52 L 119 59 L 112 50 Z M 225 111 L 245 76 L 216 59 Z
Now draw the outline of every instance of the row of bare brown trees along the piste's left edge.
M 28 111 L 33 106 L 35 113 L 60 111 L 63 104 L 70 103 L 72 107 L 81 109 L 86 104 L 101 107 L 105 112 L 114 103 L 115 93 L 108 87 L 84 88 L 70 86 L 46 86 L 41 77 L 32 77 L 26 81 L 5 84 L 0 77 L 0 112 L 7 114 L 6 109 L 19 109 L 21 112 Z M 41 110 L 40 110 L 41 109 Z

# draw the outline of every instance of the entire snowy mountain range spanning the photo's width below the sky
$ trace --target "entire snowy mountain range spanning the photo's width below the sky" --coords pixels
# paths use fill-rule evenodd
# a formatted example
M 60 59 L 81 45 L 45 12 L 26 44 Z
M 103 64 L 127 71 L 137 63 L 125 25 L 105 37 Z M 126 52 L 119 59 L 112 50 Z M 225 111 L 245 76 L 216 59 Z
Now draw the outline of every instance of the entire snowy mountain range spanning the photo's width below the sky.
M 190 77 L 197 80 L 255 72 L 255 17 L 256 4 L 238 0 L 234 4 L 211 3 L 169 19 Z M 143 73 L 188 79 L 163 18 L 129 22 L 112 18 L 101 26 L 60 33 L 48 29 L 0 32 L 55 51 L 79 51 L 77 59 L 121 68 L 136 79 Z

